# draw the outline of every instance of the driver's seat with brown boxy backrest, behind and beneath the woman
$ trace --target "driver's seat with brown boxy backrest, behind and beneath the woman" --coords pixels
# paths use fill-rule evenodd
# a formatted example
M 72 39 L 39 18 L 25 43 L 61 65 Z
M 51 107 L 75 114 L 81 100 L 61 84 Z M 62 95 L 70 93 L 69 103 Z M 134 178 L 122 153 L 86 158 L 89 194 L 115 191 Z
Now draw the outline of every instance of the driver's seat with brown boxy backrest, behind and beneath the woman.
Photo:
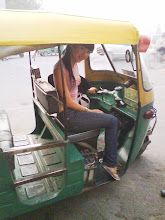
M 59 113 L 59 100 L 57 90 L 48 82 L 35 80 L 34 85 L 36 88 L 37 99 L 39 100 L 42 107 L 46 110 L 49 116 L 55 119 L 58 124 L 64 129 L 63 124 L 58 120 L 57 114 Z M 68 139 L 70 142 L 79 142 L 87 140 L 93 137 L 98 137 L 100 130 L 94 129 L 81 133 L 68 133 Z

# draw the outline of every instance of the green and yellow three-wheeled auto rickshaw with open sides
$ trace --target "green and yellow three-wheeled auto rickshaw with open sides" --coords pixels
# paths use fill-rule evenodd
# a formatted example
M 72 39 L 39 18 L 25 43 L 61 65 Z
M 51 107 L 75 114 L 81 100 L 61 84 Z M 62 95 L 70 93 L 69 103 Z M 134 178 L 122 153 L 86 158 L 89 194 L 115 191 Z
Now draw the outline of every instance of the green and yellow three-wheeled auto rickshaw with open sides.
M 31 51 L 58 47 L 61 60 L 60 48 L 67 44 L 95 44 L 94 52 L 84 61 L 84 77 L 98 89 L 97 94 L 87 94 L 89 107 L 113 114 L 120 121 L 118 164 L 122 177 L 150 143 L 156 123 L 150 123 L 156 119 L 154 92 L 139 51 L 137 29 L 130 22 L 49 12 L 0 11 L 0 18 L 4 21 L 0 23 L 0 59 L 29 53 L 36 124 L 29 134 L 13 135 L 7 111 L 0 110 L 1 218 L 113 181 L 102 167 L 104 130 L 67 133 L 66 124 L 57 118 L 58 92 L 42 79 L 40 67 L 33 67 Z M 106 50 L 109 45 L 117 45 L 118 50 L 119 45 L 126 45 L 125 56 L 112 61 L 111 50 Z M 97 48 L 102 48 L 102 53 Z M 65 96 L 63 105 L 66 109 Z

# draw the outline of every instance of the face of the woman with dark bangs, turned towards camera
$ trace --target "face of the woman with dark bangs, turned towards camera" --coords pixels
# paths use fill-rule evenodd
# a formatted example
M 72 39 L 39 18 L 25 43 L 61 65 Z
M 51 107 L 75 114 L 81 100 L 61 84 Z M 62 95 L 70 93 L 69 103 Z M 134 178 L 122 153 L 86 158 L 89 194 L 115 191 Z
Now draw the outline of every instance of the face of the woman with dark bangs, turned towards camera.
M 72 58 L 74 59 L 74 62 L 81 62 L 82 60 L 85 60 L 91 51 L 89 49 L 85 48 L 84 46 L 81 45 L 73 45 L 71 47 L 72 51 Z

